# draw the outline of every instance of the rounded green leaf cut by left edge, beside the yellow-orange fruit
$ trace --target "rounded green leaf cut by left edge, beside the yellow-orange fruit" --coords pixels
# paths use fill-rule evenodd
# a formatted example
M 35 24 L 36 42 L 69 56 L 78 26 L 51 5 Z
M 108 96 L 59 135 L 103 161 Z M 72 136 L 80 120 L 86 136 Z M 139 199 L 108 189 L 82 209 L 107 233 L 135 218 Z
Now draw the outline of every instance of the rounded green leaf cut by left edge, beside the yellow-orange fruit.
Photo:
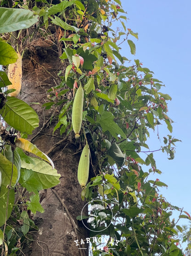
M 18 55 L 12 46 L 0 41 L 0 65 L 15 63 L 17 59 Z

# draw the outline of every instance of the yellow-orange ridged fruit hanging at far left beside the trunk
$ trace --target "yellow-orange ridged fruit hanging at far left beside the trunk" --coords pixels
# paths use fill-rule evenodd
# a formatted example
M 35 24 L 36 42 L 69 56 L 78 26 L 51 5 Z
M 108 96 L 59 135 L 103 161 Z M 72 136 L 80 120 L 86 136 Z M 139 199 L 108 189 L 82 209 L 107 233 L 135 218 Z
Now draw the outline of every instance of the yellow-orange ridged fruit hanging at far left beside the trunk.
M 9 93 L 9 96 L 12 97 L 17 97 L 19 95 L 22 84 L 22 56 L 19 53 L 17 53 L 17 55 L 17 61 L 9 64 L 7 71 L 9 81 L 12 83 L 7 86 L 7 89 L 16 89 L 16 91 Z

